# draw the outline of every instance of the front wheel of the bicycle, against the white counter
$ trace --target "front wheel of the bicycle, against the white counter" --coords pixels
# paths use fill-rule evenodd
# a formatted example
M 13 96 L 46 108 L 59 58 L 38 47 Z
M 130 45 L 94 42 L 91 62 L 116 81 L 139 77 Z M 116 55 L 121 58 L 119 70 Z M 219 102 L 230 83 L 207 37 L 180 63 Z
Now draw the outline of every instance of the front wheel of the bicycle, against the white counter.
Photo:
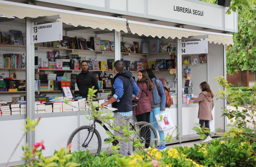
M 89 133 L 90 132 L 90 133 Z M 91 141 L 88 143 L 89 139 L 91 138 Z M 85 141 L 85 139 L 87 140 Z M 85 145 L 82 144 L 85 141 Z M 94 129 L 94 132 L 92 133 L 92 127 L 88 125 L 80 126 L 77 129 L 75 129 L 71 135 L 69 136 L 68 145 L 71 143 L 71 149 L 70 153 L 74 151 L 90 151 L 90 154 L 97 155 L 101 150 L 101 137 L 99 132 Z

